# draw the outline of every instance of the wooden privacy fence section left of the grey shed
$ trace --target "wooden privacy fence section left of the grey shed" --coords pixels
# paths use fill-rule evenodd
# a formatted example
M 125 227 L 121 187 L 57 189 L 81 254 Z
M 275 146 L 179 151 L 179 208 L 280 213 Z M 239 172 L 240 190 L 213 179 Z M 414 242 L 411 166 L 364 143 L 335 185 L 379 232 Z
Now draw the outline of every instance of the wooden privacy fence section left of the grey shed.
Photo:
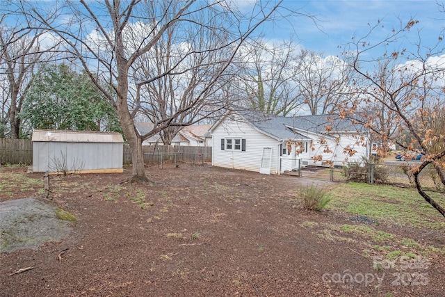
M 33 142 L 30 139 L 0 138 L 0 165 L 33 162 Z

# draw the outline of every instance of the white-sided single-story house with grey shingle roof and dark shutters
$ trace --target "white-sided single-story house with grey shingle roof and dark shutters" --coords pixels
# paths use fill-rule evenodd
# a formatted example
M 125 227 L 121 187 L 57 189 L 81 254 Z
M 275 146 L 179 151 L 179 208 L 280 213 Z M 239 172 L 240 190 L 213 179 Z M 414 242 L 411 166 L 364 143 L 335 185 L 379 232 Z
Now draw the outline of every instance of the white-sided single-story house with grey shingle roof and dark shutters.
M 362 125 L 335 115 L 281 117 L 234 109 L 209 134 L 213 166 L 266 174 L 321 166 L 327 161 L 342 166 L 368 157 L 370 151 Z M 351 151 L 355 152 L 352 156 Z

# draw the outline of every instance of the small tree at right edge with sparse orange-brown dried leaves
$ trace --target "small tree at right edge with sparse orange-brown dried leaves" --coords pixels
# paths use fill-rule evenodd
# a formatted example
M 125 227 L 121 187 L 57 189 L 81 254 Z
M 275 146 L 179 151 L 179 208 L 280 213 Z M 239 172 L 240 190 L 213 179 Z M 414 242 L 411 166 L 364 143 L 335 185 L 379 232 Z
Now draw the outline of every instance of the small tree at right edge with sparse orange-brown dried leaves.
M 424 190 L 419 174 L 429 164 L 434 166 L 440 181 L 445 185 L 445 134 L 444 123 L 439 112 L 444 108 L 444 75 L 445 59 L 435 57 L 443 52 L 442 36 L 436 47 L 424 49 L 419 44 L 418 51 L 409 53 L 405 49 L 387 51 L 389 45 L 398 45 L 398 38 L 412 30 L 416 21 L 410 20 L 400 29 L 394 29 L 385 40 L 370 44 L 366 39 L 355 40 L 347 51 L 352 54 L 351 63 L 358 74 L 355 79 L 359 99 L 349 102 L 343 115 L 351 115 L 360 109 L 364 110 L 355 120 L 371 128 L 375 138 L 383 143 L 392 141 L 407 150 L 419 148 L 425 153 L 418 166 L 412 168 L 414 183 L 419 194 L 432 205 L 442 216 L 445 209 Z M 371 30 L 371 33 L 373 31 Z M 369 35 L 371 35 L 371 33 Z M 368 35 L 368 37 L 369 37 Z M 372 58 L 370 51 L 384 47 L 380 58 Z M 405 58 L 403 63 L 401 58 Z M 371 65 L 378 65 L 373 69 Z M 375 106 L 377 109 L 363 109 L 364 106 Z M 375 113 L 370 113 L 374 111 Z M 382 117 L 384 125 L 379 126 L 378 118 Z M 438 123 L 440 122 L 440 123 Z M 401 141 L 397 134 L 389 133 L 390 127 L 398 131 L 407 131 L 408 138 Z M 394 129 L 393 129 L 394 130 Z M 385 150 L 383 151 L 385 152 Z

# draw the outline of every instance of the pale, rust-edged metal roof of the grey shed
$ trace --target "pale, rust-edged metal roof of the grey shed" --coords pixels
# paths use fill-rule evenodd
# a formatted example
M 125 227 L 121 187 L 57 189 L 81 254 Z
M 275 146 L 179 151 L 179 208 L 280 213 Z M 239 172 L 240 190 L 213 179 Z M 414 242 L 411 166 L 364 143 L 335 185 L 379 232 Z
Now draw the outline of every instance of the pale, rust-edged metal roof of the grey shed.
M 116 132 L 43 130 L 33 131 L 33 142 L 57 143 L 124 143 L 122 135 Z

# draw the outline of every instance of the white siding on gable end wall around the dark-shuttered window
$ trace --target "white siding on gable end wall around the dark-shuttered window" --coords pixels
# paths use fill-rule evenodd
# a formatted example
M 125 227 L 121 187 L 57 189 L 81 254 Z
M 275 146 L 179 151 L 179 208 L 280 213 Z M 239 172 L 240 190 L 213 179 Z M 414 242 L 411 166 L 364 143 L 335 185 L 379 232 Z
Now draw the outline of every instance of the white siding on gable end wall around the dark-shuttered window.
M 259 172 L 263 147 L 272 147 L 270 173 L 277 173 L 279 162 L 279 141 L 260 133 L 240 118 L 224 120 L 212 131 L 212 165 L 224 168 Z M 221 150 L 222 138 L 245 139 L 245 152 L 241 150 Z

